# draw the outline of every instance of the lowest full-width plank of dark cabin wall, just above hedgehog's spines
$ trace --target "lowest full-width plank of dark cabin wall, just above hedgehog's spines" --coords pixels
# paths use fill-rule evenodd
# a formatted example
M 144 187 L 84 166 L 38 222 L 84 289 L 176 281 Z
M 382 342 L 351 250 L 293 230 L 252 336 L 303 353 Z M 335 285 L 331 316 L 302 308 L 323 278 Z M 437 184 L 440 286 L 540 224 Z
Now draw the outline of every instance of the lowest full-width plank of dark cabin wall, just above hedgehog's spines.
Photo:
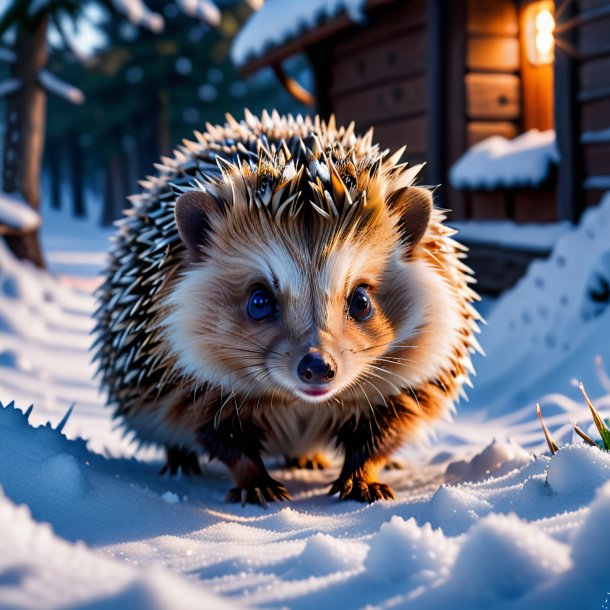
M 335 97 L 333 108 L 340 122 L 372 125 L 419 114 L 426 109 L 426 77 L 417 76 Z

